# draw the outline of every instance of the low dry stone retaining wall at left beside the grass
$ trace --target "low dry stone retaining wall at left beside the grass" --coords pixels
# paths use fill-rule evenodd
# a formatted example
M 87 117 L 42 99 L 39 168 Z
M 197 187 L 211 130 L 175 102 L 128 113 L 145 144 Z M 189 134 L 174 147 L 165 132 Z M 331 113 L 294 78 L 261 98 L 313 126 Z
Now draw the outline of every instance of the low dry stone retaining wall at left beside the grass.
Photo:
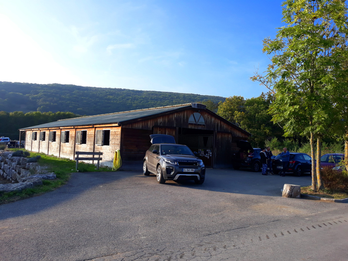
M 21 191 L 42 185 L 43 179 L 56 179 L 37 163 L 28 163 L 24 157 L 12 157 L 13 151 L 0 151 L 0 175 L 11 181 L 0 184 L 0 192 Z

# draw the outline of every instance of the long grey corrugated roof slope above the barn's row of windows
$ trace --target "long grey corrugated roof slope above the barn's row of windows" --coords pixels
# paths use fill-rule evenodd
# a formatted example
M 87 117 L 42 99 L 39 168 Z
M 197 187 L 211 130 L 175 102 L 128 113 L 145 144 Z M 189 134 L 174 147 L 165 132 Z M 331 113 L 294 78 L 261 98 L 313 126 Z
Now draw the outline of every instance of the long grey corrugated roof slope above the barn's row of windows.
M 92 124 L 93 125 L 115 124 L 115 123 L 120 123 L 120 122 L 124 122 L 128 120 L 135 120 L 135 119 L 139 119 L 139 118 L 143 118 L 147 116 L 152 116 L 158 113 L 177 110 L 184 107 L 191 107 L 191 103 L 58 120 L 58 121 L 49 122 L 49 123 L 45 123 L 41 125 L 22 128 L 21 130 L 37 129 L 37 128 L 69 127 L 69 126 L 87 126 Z

